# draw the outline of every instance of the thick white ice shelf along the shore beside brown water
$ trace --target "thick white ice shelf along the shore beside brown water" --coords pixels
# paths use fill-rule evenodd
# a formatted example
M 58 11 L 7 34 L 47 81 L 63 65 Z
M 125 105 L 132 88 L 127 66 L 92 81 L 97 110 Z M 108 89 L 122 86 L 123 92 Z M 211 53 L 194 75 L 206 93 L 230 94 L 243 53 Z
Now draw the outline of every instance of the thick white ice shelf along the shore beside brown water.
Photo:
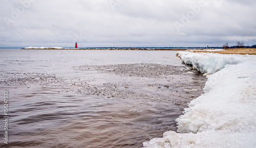
M 179 133 L 165 132 L 163 138 L 143 142 L 144 147 L 255 147 L 256 56 L 177 55 L 207 73 L 204 94 L 176 119 Z

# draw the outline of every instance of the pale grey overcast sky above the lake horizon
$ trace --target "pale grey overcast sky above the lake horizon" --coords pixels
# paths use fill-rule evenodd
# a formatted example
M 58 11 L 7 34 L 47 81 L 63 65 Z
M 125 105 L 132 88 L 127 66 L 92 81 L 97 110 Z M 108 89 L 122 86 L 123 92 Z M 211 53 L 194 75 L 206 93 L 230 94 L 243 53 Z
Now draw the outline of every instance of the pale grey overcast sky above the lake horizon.
M 0 1 L 0 47 L 256 44 L 255 0 Z

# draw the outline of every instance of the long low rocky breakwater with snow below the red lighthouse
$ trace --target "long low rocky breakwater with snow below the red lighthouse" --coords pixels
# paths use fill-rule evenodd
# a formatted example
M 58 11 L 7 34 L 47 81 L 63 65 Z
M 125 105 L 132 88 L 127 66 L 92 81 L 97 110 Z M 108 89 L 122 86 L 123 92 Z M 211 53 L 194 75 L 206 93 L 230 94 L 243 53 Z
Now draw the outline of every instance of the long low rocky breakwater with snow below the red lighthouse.
M 178 48 L 60 48 L 60 47 L 26 47 L 20 50 L 109 50 L 109 51 L 186 51 Z

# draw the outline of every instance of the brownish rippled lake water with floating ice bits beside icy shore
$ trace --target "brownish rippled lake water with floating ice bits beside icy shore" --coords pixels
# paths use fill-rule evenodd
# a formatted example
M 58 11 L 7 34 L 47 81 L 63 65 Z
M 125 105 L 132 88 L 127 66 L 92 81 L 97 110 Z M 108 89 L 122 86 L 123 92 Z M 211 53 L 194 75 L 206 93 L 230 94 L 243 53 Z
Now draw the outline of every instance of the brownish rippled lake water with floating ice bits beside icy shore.
M 174 51 L 0 51 L 11 147 L 142 147 L 206 81 Z

